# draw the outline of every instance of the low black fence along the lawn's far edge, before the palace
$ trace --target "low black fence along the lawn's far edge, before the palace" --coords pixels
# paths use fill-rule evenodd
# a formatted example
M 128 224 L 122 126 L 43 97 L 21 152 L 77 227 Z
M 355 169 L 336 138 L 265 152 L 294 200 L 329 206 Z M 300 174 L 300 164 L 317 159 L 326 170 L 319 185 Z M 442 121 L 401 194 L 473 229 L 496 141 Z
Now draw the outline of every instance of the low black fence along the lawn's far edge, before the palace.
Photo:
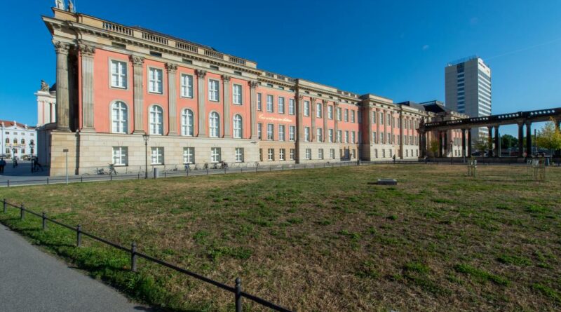
M 239 168 L 224 168 L 224 169 L 190 169 L 190 170 L 168 170 L 159 172 L 158 177 L 194 177 L 198 175 L 219 175 L 228 173 L 243 173 L 243 172 L 264 172 L 264 171 L 278 171 L 278 170 L 295 170 L 295 169 L 311 169 L 311 168 L 334 168 L 344 167 L 349 165 L 358 165 L 358 161 L 345 161 L 337 163 L 310 163 L 310 164 L 290 164 L 290 165 L 259 165 L 255 167 L 239 167 Z M 149 179 L 156 178 L 154 172 L 137 172 L 135 174 L 125 175 L 71 175 L 68 177 L 69 183 L 81 182 L 96 182 L 96 181 L 113 181 L 123 179 Z M 43 179 L 15 179 L 0 182 L 0 186 L 22 186 L 22 185 L 44 185 L 44 184 L 64 184 L 67 182 L 66 177 L 45 177 Z

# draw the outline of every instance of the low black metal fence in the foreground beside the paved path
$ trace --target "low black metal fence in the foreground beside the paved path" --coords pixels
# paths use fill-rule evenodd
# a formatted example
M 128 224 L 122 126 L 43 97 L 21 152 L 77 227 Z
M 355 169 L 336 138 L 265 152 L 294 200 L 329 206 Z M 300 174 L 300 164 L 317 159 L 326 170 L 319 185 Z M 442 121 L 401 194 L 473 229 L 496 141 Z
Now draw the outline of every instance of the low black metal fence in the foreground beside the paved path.
M 252 294 L 248 294 L 247 292 L 243 292 L 243 290 L 241 288 L 241 279 L 240 278 L 236 278 L 234 287 L 232 287 L 232 286 L 217 282 L 216 280 L 212 280 L 210 278 L 207 278 L 205 276 L 201 276 L 198 273 L 189 271 L 187 269 L 180 268 L 179 266 L 175 266 L 174 264 L 170 264 L 169 262 L 165 262 L 161 259 L 156 259 L 156 258 L 151 257 L 149 255 L 143 254 L 142 252 L 138 252 L 137 245 L 136 245 L 135 242 L 130 244 L 130 248 L 121 246 L 117 243 L 113 243 L 113 242 L 111 242 L 109 240 L 106 240 L 104 238 L 100 238 L 99 236 L 95 236 L 92 233 L 88 233 L 86 231 L 83 231 L 82 226 L 80 224 L 78 224 L 76 227 L 69 226 L 68 224 L 64 224 L 62 222 L 58 222 L 55 219 L 51 219 L 51 218 L 47 217 L 46 212 L 42 212 L 41 214 L 39 214 L 37 212 L 34 212 L 32 210 L 29 210 L 29 209 L 25 208 L 25 206 L 23 204 L 14 205 L 13 203 L 8 203 L 8 201 L 6 201 L 6 198 L 4 198 L 4 200 L 3 200 L 4 213 L 7 212 L 8 207 L 19 209 L 20 210 L 20 219 L 25 218 L 25 213 L 26 212 L 29 212 L 29 214 L 34 215 L 36 217 L 40 217 L 42 219 L 43 231 L 45 231 L 47 229 L 47 226 L 48 226 L 47 222 L 52 222 L 53 224 L 57 224 L 59 226 L 65 227 L 65 228 L 69 229 L 70 231 L 75 231 L 76 232 L 76 246 L 77 247 L 80 247 L 81 244 L 82 244 L 82 236 L 87 236 L 89 238 L 92 238 L 93 240 L 97 240 L 100 243 L 104 243 L 104 244 L 109 245 L 111 247 L 115 247 L 119 250 L 122 250 L 123 252 L 130 253 L 130 270 L 133 271 L 133 272 L 137 271 L 137 259 L 138 259 L 138 257 L 140 257 L 140 258 L 146 259 L 149 262 L 154 262 L 156 264 L 161 264 L 162 266 L 166 266 L 169 269 L 175 270 L 175 271 L 180 272 L 180 273 L 187 274 L 188 276 L 191 276 L 191 277 L 196 278 L 198 280 L 202 280 L 205 283 L 209 283 L 209 284 L 215 285 L 216 287 L 222 288 L 222 290 L 226 290 L 227 292 L 231 292 L 231 293 L 234 294 L 234 299 L 235 299 L 235 304 L 236 304 L 236 312 L 241 312 L 242 311 L 242 298 L 243 297 L 245 297 L 247 299 L 250 299 L 251 301 L 254 301 L 257 304 L 261 304 L 262 306 L 266 306 L 267 308 L 271 308 L 271 310 L 273 310 L 273 311 L 290 312 L 290 310 L 288 308 L 283 308 L 282 306 L 278 306 L 277 304 L 273 304 L 270 301 L 266 301 L 265 299 L 259 298 L 257 296 L 252 295 Z

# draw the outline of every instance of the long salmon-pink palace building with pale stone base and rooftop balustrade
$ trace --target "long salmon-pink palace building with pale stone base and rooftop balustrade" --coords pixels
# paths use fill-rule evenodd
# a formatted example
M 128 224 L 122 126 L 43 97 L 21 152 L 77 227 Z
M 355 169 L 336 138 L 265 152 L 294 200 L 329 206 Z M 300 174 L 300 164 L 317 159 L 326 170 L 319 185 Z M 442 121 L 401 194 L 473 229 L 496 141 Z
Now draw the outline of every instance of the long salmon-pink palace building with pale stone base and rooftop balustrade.
M 38 149 L 50 175 L 65 172 L 65 153 L 76 174 L 109 163 L 144 170 L 145 158 L 162 168 L 417 159 L 419 144 L 433 140 L 419 136 L 419 123 L 466 117 L 266 72 L 148 29 L 53 12 L 43 21 L 57 58 L 56 111 L 39 130 Z M 458 154 L 459 133 L 447 137 L 454 146 L 446 153 Z

